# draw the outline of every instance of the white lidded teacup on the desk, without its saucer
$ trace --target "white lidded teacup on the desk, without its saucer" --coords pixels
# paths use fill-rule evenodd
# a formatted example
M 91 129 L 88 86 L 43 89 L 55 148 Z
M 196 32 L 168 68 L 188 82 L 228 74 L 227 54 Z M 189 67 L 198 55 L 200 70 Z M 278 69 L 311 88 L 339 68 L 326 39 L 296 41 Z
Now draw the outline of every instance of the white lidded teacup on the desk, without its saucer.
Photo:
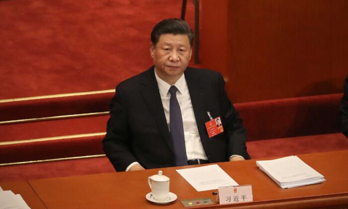
M 169 199 L 169 178 L 162 175 L 162 171 L 159 171 L 158 175 L 150 176 L 148 183 L 154 200 L 167 201 Z

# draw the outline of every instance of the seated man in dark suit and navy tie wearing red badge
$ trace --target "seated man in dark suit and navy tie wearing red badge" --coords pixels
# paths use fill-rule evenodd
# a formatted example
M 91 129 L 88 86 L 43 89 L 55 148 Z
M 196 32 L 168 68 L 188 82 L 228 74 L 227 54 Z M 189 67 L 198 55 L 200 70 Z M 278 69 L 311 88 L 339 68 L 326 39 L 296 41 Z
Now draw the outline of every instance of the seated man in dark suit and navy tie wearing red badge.
M 181 19 L 157 23 L 154 66 L 116 87 L 103 139 L 116 171 L 250 159 L 246 129 L 221 74 L 187 67 L 193 37 Z M 218 116 L 224 132 L 209 138 L 205 123 L 216 127 Z

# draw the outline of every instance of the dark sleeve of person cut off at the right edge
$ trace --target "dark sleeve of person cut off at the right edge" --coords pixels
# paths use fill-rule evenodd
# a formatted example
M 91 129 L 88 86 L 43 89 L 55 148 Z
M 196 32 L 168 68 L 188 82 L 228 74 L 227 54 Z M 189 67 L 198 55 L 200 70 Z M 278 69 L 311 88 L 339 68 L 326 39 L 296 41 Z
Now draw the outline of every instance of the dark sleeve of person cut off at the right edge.
M 344 84 L 344 94 L 340 104 L 339 125 L 343 134 L 348 138 L 348 75 Z

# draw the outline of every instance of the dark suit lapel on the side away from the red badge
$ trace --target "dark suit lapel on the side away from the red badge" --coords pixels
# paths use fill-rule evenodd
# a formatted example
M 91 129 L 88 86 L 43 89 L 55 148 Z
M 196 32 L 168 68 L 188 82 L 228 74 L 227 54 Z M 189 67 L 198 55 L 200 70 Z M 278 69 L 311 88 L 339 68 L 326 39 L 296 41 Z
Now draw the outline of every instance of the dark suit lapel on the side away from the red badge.
M 144 76 L 140 82 L 140 92 L 145 103 L 148 105 L 151 114 L 154 116 L 160 132 L 165 138 L 170 149 L 173 151 L 173 142 L 167 125 L 166 115 L 163 109 L 160 90 L 158 89 L 154 70 L 155 68 L 151 67 L 146 73 L 143 74 Z

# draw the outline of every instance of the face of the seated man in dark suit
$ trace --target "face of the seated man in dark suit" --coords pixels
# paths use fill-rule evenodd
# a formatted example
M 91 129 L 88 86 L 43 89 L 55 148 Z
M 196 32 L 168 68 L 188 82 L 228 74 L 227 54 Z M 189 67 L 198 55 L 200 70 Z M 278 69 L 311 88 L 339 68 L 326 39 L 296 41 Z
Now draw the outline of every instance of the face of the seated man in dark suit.
M 157 75 L 172 85 L 185 71 L 192 49 L 187 35 L 162 34 L 156 46 L 151 44 L 150 53 Z

